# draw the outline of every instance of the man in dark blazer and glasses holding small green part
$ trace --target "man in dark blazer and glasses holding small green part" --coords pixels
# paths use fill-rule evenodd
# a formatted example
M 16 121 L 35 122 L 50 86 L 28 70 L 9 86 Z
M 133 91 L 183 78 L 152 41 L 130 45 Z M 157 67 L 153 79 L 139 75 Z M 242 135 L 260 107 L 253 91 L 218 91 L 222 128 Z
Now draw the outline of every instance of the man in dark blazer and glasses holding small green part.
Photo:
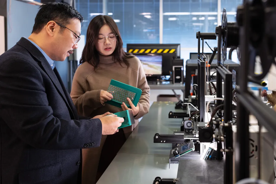
M 67 4 L 44 4 L 30 37 L 0 56 L 1 184 L 80 183 L 81 149 L 124 121 L 79 117 L 54 66 L 78 47 L 82 21 Z

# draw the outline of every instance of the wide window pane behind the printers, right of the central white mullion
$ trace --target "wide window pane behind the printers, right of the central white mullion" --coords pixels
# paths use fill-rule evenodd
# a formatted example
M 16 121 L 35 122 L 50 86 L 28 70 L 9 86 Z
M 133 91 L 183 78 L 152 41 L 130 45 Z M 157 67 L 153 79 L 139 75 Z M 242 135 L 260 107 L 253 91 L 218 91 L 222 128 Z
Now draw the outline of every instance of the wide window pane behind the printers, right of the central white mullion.
M 217 0 L 163 0 L 163 43 L 180 43 L 184 62 L 197 52 L 196 33 L 214 33 L 216 26 Z M 217 40 L 206 42 L 217 46 Z M 204 52 L 212 52 L 206 44 Z

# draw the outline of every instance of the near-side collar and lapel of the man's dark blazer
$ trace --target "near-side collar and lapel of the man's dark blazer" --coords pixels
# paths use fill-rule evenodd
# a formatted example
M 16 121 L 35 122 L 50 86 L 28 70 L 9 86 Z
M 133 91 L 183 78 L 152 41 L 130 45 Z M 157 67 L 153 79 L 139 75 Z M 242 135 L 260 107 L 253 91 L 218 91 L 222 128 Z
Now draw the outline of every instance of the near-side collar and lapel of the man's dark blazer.
M 62 86 L 57 78 L 57 76 L 55 75 L 55 72 L 53 71 L 53 69 L 51 68 L 51 66 L 49 65 L 49 62 L 47 61 L 47 59 L 43 56 L 43 54 L 38 50 L 38 48 L 36 48 L 36 46 L 34 44 L 32 44 L 29 40 L 27 40 L 26 38 L 21 38 L 18 42 L 18 45 L 24 47 L 25 49 L 27 49 L 30 54 L 36 58 L 37 61 L 39 61 L 41 63 L 41 68 L 44 70 L 45 73 L 47 73 L 47 75 L 49 76 L 49 78 L 52 80 L 55 88 L 57 89 L 57 91 L 60 93 L 60 95 L 62 96 L 63 100 L 66 102 L 67 108 L 71 114 L 71 118 L 75 119 L 74 113 L 67 101 L 67 98 L 65 96 L 65 92 L 62 89 Z

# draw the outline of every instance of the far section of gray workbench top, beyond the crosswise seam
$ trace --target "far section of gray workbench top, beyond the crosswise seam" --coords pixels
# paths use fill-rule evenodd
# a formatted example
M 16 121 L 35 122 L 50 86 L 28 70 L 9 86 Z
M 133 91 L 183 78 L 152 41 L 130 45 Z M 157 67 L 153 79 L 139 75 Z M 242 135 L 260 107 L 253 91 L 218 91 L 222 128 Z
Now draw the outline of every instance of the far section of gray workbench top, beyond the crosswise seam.
M 150 112 L 143 117 L 118 153 L 165 154 L 169 157 L 172 144 L 153 143 L 153 137 L 155 133 L 173 134 L 180 131 L 182 119 L 168 117 L 170 111 L 183 112 L 183 110 L 174 109 L 175 103 L 154 102 Z

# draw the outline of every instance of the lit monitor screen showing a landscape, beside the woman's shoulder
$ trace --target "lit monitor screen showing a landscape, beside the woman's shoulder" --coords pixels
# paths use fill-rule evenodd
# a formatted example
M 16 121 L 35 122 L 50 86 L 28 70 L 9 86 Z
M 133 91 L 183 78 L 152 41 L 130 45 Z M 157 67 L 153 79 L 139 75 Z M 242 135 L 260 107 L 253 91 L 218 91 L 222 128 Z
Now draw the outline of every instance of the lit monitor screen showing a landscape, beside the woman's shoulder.
M 162 55 L 136 55 L 146 75 L 162 75 Z

